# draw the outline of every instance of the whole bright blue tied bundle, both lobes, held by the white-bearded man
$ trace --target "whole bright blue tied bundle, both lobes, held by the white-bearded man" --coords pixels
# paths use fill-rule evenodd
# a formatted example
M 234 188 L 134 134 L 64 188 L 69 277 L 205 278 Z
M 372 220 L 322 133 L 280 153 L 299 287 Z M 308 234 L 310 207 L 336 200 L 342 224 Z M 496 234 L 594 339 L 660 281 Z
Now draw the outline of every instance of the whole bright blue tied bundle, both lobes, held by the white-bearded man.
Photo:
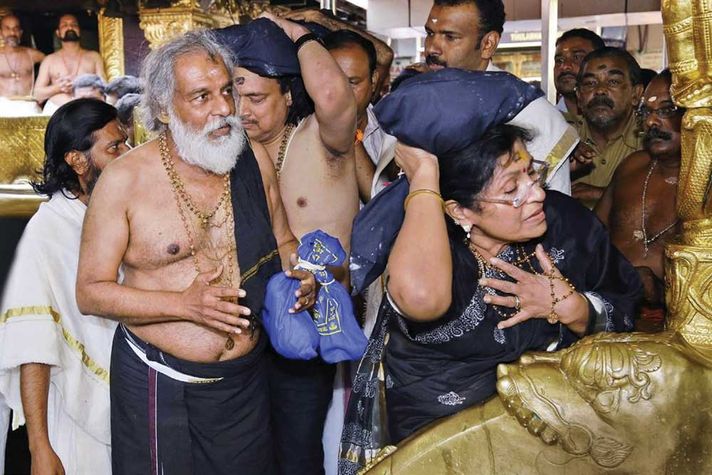
M 312 231 L 297 250 L 297 268 L 314 274 L 321 284 L 314 304 L 314 319 L 307 312 L 289 314 L 299 282 L 279 273 L 267 284 L 263 324 L 272 346 L 291 359 L 311 359 L 319 354 L 328 363 L 361 358 L 367 339 L 354 316 L 348 291 L 326 266 L 340 266 L 346 251 L 339 240 L 324 231 Z

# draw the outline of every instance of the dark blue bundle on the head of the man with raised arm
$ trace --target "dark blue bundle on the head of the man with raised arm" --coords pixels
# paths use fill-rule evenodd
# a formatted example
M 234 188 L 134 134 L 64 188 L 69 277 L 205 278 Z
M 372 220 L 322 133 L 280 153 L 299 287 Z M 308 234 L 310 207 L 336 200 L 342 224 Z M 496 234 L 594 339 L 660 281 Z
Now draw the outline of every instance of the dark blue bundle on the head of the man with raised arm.
M 235 55 L 238 66 L 255 74 L 266 77 L 300 74 L 294 42 L 267 18 L 220 28 L 215 30 L 215 36 Z

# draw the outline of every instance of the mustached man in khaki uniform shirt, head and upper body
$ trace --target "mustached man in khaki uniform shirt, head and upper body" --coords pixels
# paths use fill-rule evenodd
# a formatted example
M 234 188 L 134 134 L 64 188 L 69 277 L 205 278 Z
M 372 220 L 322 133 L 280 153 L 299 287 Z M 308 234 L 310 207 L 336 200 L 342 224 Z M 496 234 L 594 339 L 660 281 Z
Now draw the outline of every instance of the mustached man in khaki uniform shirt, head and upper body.
M 582 145 L 571 162 L 572 196 L 593 208 L 618 164 L 641 148 L 635 107 L 643 93 L 638 62 L 627 51 L 605 47 L 586 55 L 576 97 L 584 122 Z

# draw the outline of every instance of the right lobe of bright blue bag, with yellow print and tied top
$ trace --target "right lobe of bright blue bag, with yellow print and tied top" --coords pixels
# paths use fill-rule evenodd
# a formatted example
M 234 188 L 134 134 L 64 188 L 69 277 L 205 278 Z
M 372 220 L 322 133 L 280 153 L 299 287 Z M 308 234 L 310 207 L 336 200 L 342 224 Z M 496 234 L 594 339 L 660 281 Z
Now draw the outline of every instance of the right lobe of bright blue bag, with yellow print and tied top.
M 346 251 L 338 239 L 317 229 L 302 237 L 297 252 L 300 259 L 297 267 L 313 272 L 321 284 L 314 319 L 322 359 L 338 363 L 361 358 L 368 340 L 356 322 L 349 292 L 326 269 L 340 266 L 346 259 Z

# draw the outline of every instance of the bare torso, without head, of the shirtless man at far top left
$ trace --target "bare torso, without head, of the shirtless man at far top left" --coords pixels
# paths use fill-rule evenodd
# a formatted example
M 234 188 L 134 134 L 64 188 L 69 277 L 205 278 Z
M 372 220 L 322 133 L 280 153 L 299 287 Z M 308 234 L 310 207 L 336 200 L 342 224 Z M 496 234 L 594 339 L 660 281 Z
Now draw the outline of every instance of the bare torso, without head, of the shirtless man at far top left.
M 30 96 L 35 63 L 42 61 L 44 54 L 24 46 L 0 51 L 0 97 Z

